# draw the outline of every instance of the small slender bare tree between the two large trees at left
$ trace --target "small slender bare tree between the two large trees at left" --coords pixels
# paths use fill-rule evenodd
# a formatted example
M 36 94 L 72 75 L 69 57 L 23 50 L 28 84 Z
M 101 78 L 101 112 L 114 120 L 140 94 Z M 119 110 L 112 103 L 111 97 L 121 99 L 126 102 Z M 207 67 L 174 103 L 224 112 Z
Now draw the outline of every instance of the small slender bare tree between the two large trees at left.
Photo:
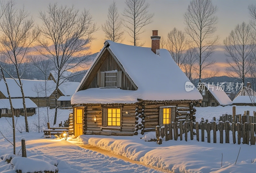
M 31 58 L 32 63 L 35 67 L 37 67 L 43 74 L 44 74 L 44 94 L 45 94 L 45 101 L 46 101 L 46 107 L 47 107 L 47 117 L 48 117 L 48 122 L 49 122 L 49 112 L 48 112 L 48 98 L 47 98 L 47 90 L 48 87 L 46 86 L 46 81 L 47 81 L 47 77 L 50 74 L 50 71 L 53 69 L 52 64 L 51 64 L 51 60 L 42 60 L 41 57 L 34 57 Z

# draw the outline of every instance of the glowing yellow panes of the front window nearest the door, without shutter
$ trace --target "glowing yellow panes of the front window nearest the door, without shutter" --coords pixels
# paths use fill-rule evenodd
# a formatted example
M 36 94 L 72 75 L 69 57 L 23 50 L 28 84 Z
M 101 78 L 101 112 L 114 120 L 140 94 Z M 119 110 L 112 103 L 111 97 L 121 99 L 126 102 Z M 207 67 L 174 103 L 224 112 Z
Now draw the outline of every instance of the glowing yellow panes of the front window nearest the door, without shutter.
M 121 123 L 121 109 L 108 108 L 108 126 L 120 126 Z

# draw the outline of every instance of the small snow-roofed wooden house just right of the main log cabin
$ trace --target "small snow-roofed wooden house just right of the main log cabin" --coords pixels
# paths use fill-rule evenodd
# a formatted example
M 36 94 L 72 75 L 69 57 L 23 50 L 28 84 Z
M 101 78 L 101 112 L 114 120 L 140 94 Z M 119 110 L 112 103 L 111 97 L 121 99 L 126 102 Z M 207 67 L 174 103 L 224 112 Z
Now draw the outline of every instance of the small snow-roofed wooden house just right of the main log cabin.
M 221 87 L 202 83 L 199 91 L 203 96 L 202 107 L 232 105 L 232 101 Z

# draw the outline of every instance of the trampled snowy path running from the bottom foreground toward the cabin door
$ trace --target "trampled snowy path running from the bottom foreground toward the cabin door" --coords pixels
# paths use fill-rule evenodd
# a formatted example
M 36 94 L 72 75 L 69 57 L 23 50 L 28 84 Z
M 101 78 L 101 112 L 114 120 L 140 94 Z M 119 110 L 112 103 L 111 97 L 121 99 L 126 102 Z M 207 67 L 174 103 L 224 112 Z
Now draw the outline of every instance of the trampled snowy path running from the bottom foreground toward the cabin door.
M 52 159 L 60 159 L 59 173 L 71 172 L 160 172 L 139 164 L 109 157 L 101 153 L 87 150 L 65 140 L 38 139 L 28 140 L 28 152 L 46 154 Z

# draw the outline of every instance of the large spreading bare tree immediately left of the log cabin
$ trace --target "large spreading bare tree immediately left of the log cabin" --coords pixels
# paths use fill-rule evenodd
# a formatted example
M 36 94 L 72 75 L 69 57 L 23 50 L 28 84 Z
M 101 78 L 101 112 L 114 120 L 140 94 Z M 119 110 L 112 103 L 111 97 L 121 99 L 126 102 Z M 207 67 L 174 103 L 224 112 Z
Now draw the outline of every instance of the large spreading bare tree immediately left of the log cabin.
M 55 90 L 55 116 L 57 121 L 57 94 L 61 83 L 70 76 L 63 73 L 72 71 L 76 67 L 83 67 L 87 62 L 89 45 L 93 40 L 92 34 L 97 31 L 89 11 L 79 14 L 74 6 L 58 6 L 49 4 L 47 12 L 40 12 L 42 37 L 38 40 L 37 51 L 52 60 L 57 74 Z

